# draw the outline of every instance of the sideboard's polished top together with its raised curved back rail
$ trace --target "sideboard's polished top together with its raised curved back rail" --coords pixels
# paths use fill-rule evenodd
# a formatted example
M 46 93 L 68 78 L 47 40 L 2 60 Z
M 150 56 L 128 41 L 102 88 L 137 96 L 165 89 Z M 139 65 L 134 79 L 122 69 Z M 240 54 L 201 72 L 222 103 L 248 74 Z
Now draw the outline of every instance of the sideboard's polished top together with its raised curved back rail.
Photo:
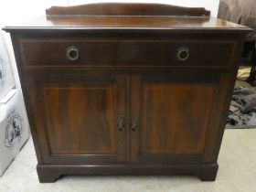
M 46 16 L 30 22 L 4 27 L 20 30 L 205 30 L 244 32 L 249 27 L 210 17 L 204 8 L 155 4 L 92 4 L 51 7 Z

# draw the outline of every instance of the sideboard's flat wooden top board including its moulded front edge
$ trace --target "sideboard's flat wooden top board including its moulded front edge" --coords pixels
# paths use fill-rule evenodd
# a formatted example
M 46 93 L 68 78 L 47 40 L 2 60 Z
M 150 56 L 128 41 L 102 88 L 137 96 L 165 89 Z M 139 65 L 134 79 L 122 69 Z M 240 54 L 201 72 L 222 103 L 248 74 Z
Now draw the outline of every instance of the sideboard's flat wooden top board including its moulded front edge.
M 249 27 L 230 23 L 214 17 L 201 16 L 39 16 L 29 22 L 17 23 L 15 26 L 3 28 L 8 32 L 67 33 L 73 32 L 134 32 L 144 33 L 195 33 L 204 32 L 215 34 L 247 34 L 252 31 Z

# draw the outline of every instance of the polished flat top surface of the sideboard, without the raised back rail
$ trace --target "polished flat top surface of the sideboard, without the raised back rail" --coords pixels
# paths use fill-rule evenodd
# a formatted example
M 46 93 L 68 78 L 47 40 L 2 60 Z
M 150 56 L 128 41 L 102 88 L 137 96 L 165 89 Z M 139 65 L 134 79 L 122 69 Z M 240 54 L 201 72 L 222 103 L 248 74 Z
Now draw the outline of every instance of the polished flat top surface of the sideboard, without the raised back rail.
M 213 17 L 200 16 L 41 16 L 30 22 L 5 27 L 18 29 L 188 29 L 188 30 L 243 30 L 243 27 Z

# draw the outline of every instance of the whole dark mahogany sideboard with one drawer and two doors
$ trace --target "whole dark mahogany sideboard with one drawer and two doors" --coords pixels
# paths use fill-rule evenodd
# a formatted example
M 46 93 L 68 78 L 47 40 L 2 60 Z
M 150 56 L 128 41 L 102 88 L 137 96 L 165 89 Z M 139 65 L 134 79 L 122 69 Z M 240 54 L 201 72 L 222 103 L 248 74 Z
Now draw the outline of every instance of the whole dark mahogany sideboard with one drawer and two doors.
M 51 7 L 10 32 L 40 182 L 190 174 L 213 181 L 248 27 L 204 8 Z

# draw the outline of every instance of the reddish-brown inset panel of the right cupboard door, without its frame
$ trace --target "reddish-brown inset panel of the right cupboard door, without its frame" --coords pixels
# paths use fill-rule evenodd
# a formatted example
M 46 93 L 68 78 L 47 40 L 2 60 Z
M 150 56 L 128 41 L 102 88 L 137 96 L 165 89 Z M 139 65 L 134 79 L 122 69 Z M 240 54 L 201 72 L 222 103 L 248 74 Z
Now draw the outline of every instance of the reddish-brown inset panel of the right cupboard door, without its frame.
M 214 92 L 214 84 L 144 84 L 140 151 L 203 153 Z

